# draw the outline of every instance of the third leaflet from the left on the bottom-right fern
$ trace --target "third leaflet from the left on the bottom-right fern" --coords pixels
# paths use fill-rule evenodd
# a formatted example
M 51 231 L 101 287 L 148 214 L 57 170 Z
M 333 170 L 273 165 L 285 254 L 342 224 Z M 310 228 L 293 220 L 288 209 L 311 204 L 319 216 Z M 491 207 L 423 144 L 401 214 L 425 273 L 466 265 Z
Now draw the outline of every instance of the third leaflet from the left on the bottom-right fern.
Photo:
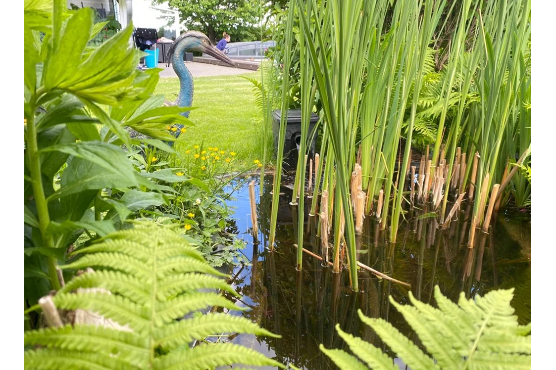
M 400 333 L 398 329 L 394 328 L 388 321 L 383 319 L 371 319 L 366 317 L 361 310 L 359 310 L 359 318 L 365 324 L 369 325 L 374 331 L 379 334 L 384 343 L 401 357 L 412 370 L 428 370 L 439 369 L 434 363 L 433 359 L 426 356 L 413 342 Z

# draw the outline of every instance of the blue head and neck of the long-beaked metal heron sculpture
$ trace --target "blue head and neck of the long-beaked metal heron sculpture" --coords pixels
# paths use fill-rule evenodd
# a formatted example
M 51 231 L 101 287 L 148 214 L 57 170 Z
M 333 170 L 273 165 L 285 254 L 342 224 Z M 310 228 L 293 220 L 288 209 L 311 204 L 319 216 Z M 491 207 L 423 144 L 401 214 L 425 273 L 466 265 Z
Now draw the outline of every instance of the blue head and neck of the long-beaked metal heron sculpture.
M 177 97 L 177 105 L 180 107 L 191 107 L 191 102 L 193 101 L 193 78 L 191 72 L 189 72 L 185 63 L 183 63 L 185 52 L 192 51 L 207 53 L 222 62 L 228 63 L 231 66 L 234 65 L 234 62 L 226 54 L 217 49 L 204 33 L 199 31 L 182 33 L 172 43 L 166 54 L 168 64 L 171 60 L 172 68 L 176 72 L 177 77 L 180 78 L 180 94 Z M 166 64 L 167 67 L 168 64 Z M 180 114 L 184 117 L 189 117 L 189 111 Z M 180 130 L 176 131 L 176 137 L 180 136 L 180 132 Z

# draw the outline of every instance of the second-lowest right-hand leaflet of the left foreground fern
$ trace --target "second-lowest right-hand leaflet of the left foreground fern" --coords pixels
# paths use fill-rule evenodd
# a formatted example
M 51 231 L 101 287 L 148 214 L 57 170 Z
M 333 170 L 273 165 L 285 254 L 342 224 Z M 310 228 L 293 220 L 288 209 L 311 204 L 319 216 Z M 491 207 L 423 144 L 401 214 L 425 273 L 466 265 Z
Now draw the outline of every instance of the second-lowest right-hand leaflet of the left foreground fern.
M 209 313 L 178 321 L 155 331 L 156 343 L 166 350 L 172 350 L 191 342 L 195 338 L 205 338 L 217 333 L 247 333 L 257 336 L 279 338 L 276 334 L 262 329 L 258 324 L 240 316 L 224 313 Z

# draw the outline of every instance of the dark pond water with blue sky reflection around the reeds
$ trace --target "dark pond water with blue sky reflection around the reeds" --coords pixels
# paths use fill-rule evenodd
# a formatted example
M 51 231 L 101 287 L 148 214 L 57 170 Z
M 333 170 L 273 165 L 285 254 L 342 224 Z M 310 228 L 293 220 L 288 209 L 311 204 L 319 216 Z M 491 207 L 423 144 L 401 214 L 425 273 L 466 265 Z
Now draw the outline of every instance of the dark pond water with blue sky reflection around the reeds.
M 336 323 L 344 331 L 384 349 L 372 329 L 359 321 L 357 311 L 361 309 L 366 316 L 387 319 L 414 338 L 403 317 L 391 307 L 388 297 L 391 295 L 397 302 L 407 303 L 411 289 L 421 301 L 434 304 L 437 284 L 453 301 L 458 299 L 460 292 L 471 298 L 492 289 L 514 287 L 512 305 L 519 321 L 531 320 L 531 222 L 519 210 L 500 212 L 493 231 L 489 235 L 478 233 L 477 247 L 471 251 L 466 247 L 466 216 L 469 214 L 466 206 L 448 230 L 437 228 L 434 218 L 418 219 L 416 215 L 406 214 L 409 221 L 401 224 L 396 244 L 386 243 L 386 233 L 368 217 L 364 234 L 358 238 L 359 261 L 410 283 L 411 288 L 360 271 L 360 291 L 353 292 L 347 271 L 334 274 L 331 268 L 323 267 L 320 261 L 307 254 L 304 254 L 302 271 L 296 271 L 294 223 L 289 205 L 291 192 L 287 188 L 282 189 L 285 194 L 281 196 L 276 249 L 270 252 L 264 247 L 272 197 L 271 178 L 268 180 L 268 183 L 265 180 L 261 197 L 258 188 L 256 191 L 260 244 L 253 244 L 249 234 L 247 186 L 234 192 L 235 201 L 227 202 L 236 208 L 234 219 L 239 237 L 247 242 L 244 252 L 252 261 L 252 266 L 236 267 L 232 271 L 231 283 L 241 294 L 236 303 L 251 308 L 234 314 L 258 322 L 282 338 L 242 334 L 232 338 L 234 343 L 300 368 L 334 369 L 334 364 L 320 352 L 319 344 L 326 348 L 344 347 L 334 329 Z M 306 216 L 305 222 L 305 248 L 320 254 L 320 239 L 314 233 L 316 218 Z

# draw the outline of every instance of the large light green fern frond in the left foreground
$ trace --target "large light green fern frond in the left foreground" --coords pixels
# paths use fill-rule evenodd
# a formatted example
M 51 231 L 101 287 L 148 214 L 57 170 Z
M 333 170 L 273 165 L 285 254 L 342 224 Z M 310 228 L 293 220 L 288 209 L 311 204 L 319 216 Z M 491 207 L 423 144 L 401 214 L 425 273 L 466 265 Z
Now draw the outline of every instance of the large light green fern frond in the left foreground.
M 208 306 L 242 308 L 214 291 L 235 294 L 201 253 L 167 228 L 138 223 L 74 254 L 81 258 L 64 269 L 97 269 L 69 281 L 52 297 L 56 307 L 94 312 L 125 329 L 74 323 L 28 331 L 24 368 L 285 368 L 252 349 L 210 343 L 209 337 L 223 332 L 275 334 L 231 314 L 192 314 Z M 205 340 L 191 346 L 198 339 Z

